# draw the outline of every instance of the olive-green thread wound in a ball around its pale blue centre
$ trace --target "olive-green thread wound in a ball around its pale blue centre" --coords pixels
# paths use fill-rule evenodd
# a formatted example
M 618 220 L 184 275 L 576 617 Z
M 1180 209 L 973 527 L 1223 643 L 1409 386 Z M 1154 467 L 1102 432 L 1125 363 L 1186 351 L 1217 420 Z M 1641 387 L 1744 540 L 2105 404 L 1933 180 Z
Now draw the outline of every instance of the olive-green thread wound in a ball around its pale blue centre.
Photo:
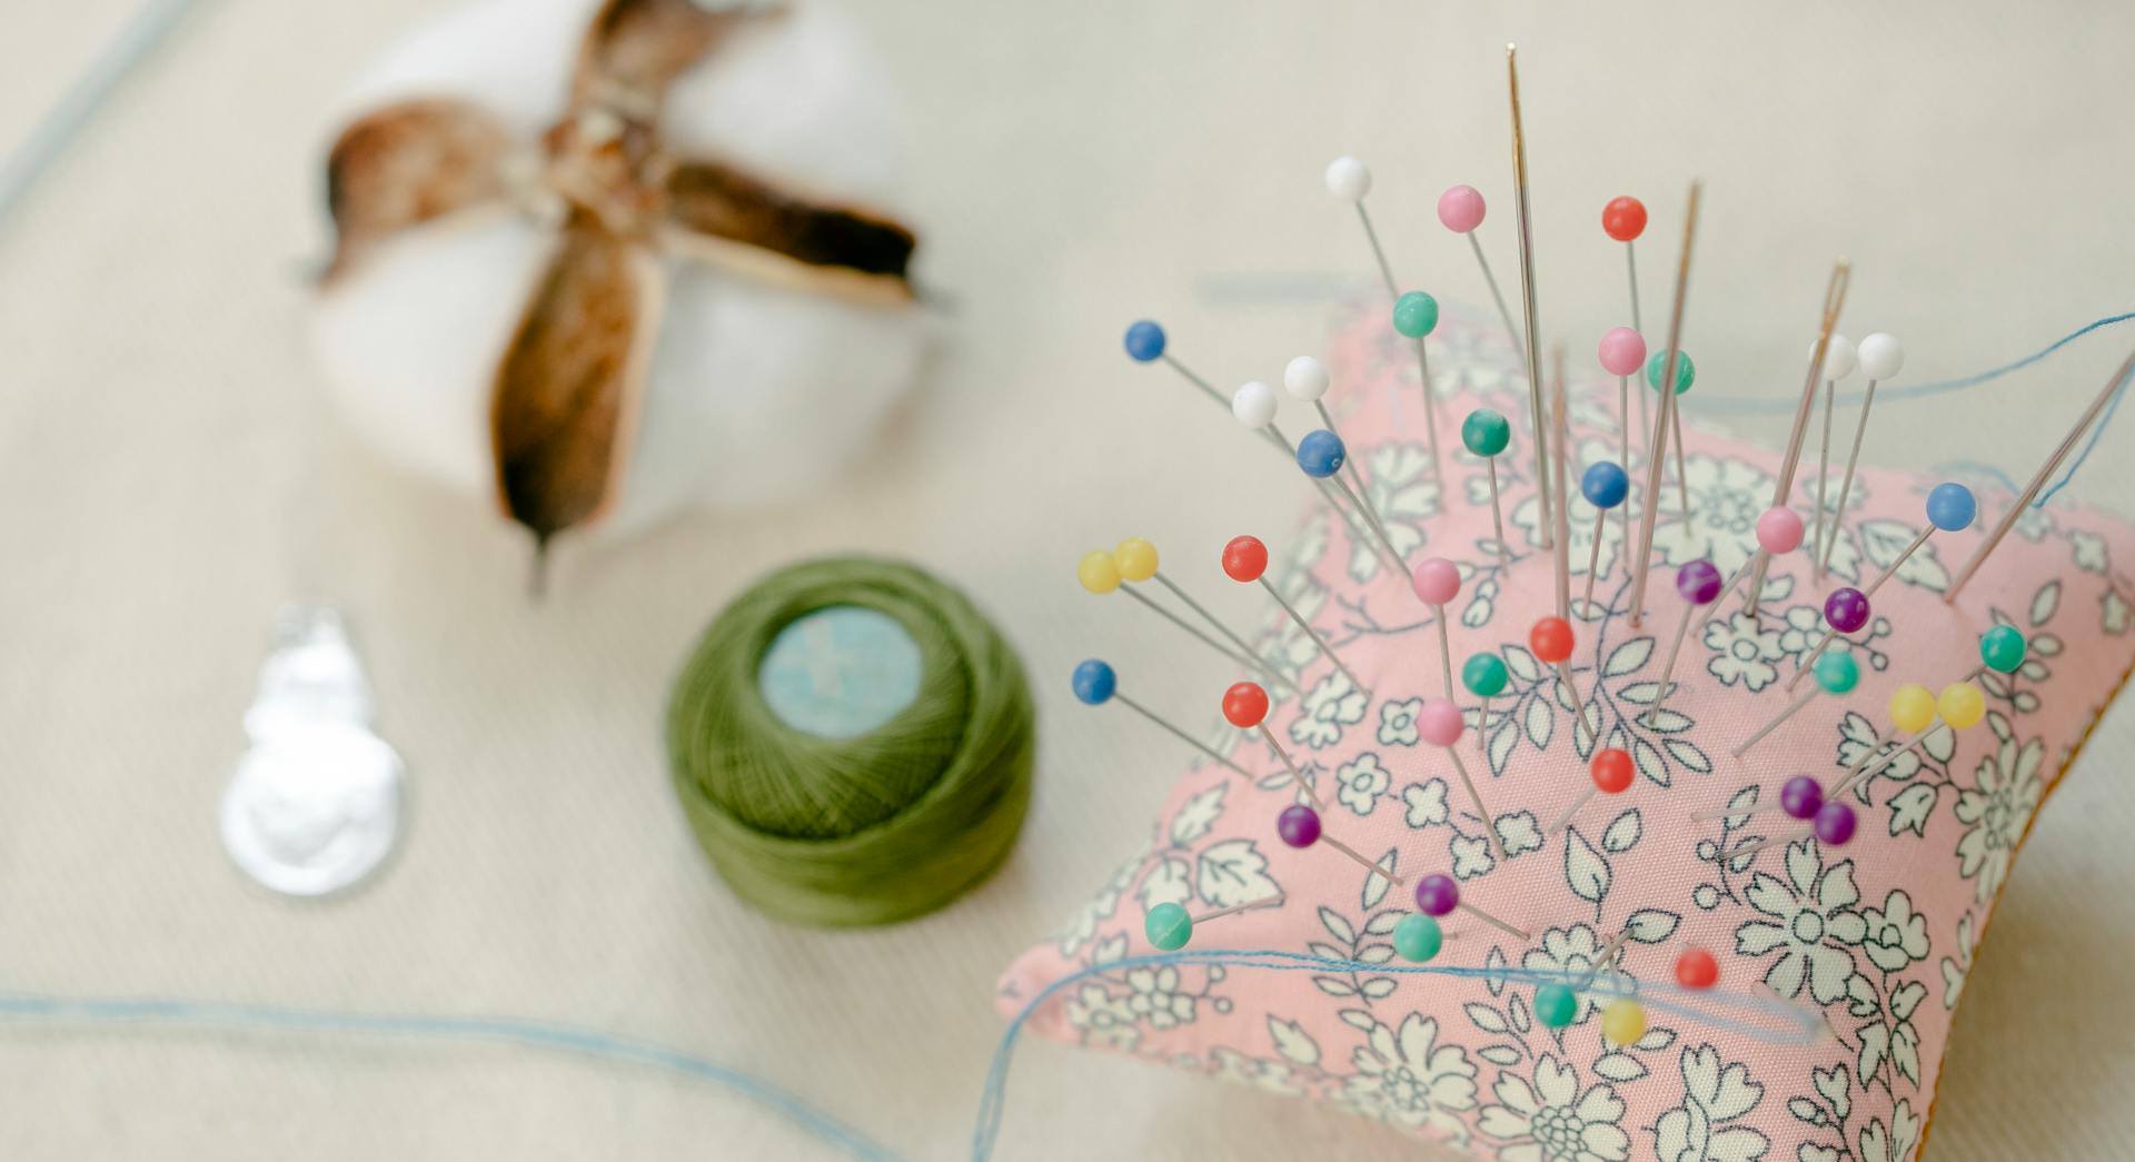
M 824 739 L 764 705 L 758 666 L 788 624 L 841 604 L 912 634 L 920 690 L 886 724 Z M 877 558 L 801 562 L 737 596 L 683 662 L 666 735 L 683 814 L 734 895 L 824 927 L 912 918 L 993 872 L 1038 741 L 1008 641 L 954 587 Z

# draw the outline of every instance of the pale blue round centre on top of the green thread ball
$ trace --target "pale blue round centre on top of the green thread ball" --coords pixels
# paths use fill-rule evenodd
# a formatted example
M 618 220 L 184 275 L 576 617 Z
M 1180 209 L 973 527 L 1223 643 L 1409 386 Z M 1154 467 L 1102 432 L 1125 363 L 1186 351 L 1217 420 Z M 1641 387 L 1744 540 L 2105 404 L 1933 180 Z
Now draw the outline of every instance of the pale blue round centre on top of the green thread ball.
M 828 604 L 771 639 L 756 688 L 786 726 L 818 739 L 856 739 L 920 696 L 920 645 L 888 613 Z

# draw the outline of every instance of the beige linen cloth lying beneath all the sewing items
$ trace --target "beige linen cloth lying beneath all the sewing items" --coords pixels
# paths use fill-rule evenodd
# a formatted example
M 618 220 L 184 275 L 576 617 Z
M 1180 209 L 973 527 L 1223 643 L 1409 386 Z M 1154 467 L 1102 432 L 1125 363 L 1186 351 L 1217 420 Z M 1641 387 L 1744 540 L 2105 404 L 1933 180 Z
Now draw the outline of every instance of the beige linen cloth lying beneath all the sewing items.
M 130 0 L 17 0 L 19 137 Z M 1845 331 L 1902 380 L 2000 363 L 2135 305 L 2126 4 L 867 4 L 914 122 L 922 276 L 956 295 L 929 389 L 822 498 L 568 545 L 553 596 L 491 513 L 389 472 L 325 421 L 299 342 L 322 254 L 320 109 L 421 0 L 201 0 L 0 220 L 0 989 L 570 1019 L 775 1079 L 886 1145 L 952 1158 L 1001 1032 L 995 972 L 1138 844 L 1176 754 L 1076 707 L 1112 656 L 1198 718 L 1219 664 L 1074 587 L 1078 551 L 1281 536 L 1304 489 L 1121 327 L 1161 316 L 1223 382 L 1315 350 L 1369 290 L 1322 164 L 1356 152 L 1405 278 L 1486 301 L 1430 205 L 1509 233 L 1503 43 L 1518 38 L 1541 320 L 1576 359 L 1623 323 L 1597 216 L 1640 192 L 1648 316 L 1691 175 L 1699 395 L 1796 389 L 1830 261 Z M 2022 474 L 2135 333 L 1941 404 L 1870 457 Z M 2135 421 L 2131 421 L 2135 423 Z M 1781 438 L 1781 423 L 1755 431 Z M 2079 483 L 2126 500 L 2112 434 Z M 775 927 L 734 904 L 666 784 L 660 711 L 692 634 L 803 553 L 916 558 L 967 585 L 1040 686 L 1038 801 L 1010 865 L 920 923 Z M 2124 562 L 2122 562 L 2124 564 Z M 246 882 L 213 807 L 284 598 L 346 602 L 410 831 L 365 891 Z M 1949 1160 L 2112 1158 L 2135 1141 L 2135 797 L 2114 711 L 2047 805 L 1958 1019 L 1932 1130 Z M 1650 1136 L 1635 1134 L 1640 1149 Z M 500 1047 L 0 1025 L 0 1156 L 809 1158 L 719 1089 Z M 1337 1113 L 1106 1053 L 1027 1045 L 1003 1158 L 1375 1158 Z

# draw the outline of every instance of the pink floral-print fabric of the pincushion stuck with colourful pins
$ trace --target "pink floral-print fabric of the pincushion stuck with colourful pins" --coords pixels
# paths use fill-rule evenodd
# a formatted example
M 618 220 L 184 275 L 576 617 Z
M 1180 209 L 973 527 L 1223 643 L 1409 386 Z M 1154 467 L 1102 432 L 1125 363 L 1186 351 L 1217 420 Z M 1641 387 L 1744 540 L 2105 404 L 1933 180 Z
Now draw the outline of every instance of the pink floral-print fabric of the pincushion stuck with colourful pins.
M 1403 555 L 1411 564 L 1443 555 L 1460 566 L 1460 596 L 1448 609 L 1454 669 L 1492 649 L 1512 669 L 1512 686 L 1492 698 L 1482 735 L 1480 701 L 1456 694 L 1469 722 L 1462 756 L 1497 816 L 1507 857 L 1492 857 L 1445 754 L 1418 739 L 1422 701 L 1441 694 L 1430 611 L 1339 519 L 1315 508 L 1287 545 L 1272 545 L 1287 566 L 1277 564 L 1270 579 L 1371 694 L 1287 622 L 1270 619 L 1262 645 L 1294 666 L 1304 690 L 1302 698 L 1277 703 L 1268 724 L 1326 801 L 1326 833 L 1366 857 L 1392 859 L 1411 882 L 1450 872 L 1465 901 L 1535 936 L 1518 942 L 1454 912 L 1433 963 L 1584 970 L 1610 936 L 1629 927 L 1629 976 L 1672 980 L 1678 951 L 1697 944 L 1719 959 L 1721 989 L 1776 991 L 1821 1008 L 1832 1036 L 1772 1045 L 1652 1012 L 1642 1040 L 1612 1049 L 1591 998 L 1582 998 L 1569 1027 L 1552 1032 L 1535 1021 L 1533 987 L 1522 983 L 1202 965 L 1097 972 L 1048 1000 L 1031 1027 L 1334 1102 L 1505 1160 L 1911 1158 L 1926 1132 L 1973 948 L 2015 850 L 2135 660 L 2135 581 L 2116 568 L 2135 560 L 2135 534 L 2116 519 L 2054 502 L 2018 521 L 1947 607 L 1941 594 L 1951 572 L 2011 502 L 2003 487 L 1973 481 L 1981 521 L 1932 536 L 1877 592 L 1872 622 L 1855 634 L 1860 688 L 1819 696 L 1734 760 L 1729 752 L 1791 698 L 1785 686 L 1821 632 L 1823 594 L 1857 585 L 1894 560 L 1924 525 L 1921 502 L 1939 481 L 1864 468 L 1832 579 L 1815 585 L 1806 551 L 1796 551 L 1774 562 L 1761 619 L 1742 613 L 1740 590 L 1706 607 L 1691 619 L 1678 690 L 1663 713 L 1635 722 L 1655 698 L 1661 656 L 1682 613 L 1674 568 L 1710 558 L 1731 575 L 1749 560 L 1778 468 L 1772 451 L 1687 425 L 1691 517 L 1678 515 L 1670 481 L 1642 628 L 1633 630 L 1625 615 L 1631 583 L 1625 525 L 1614 517 L 1601 523 L 1595 609 L 1573 619 L 1578 696 L 1599 716 L 1603 745 L 1633 752 L 1638 778 L 1623 795 L 1597 795 L 1567 831 L 1548 835 L 1588 786 L 1593 743 L 1584 733 L 1571 739 L 1569 701 L 1554 671 L 1524 645 L 1529 626 L 1554 602 L 1550 558 L 1537 549 L 1527 384 L 1494 331 L 1450 325 L 1430 346 L 1439 436 L 1456 453 L 1445 464 L 1445 487 L 1462 493 L 1450 511 L 1424 451 L 1413 346 L 1377 314 L 1337 342 L 1330 404 Z M 1616 459 L 1614 404 L 1616 384 L 1576 393 L 1576 466 Z M 1497 461 L 1514 543 L 1509 566 L 1490 549 L 1484 464 L 1458 442 L 1460 419 L 1475 406 L 1505 412 L 1516 429 Z M 1892 423 L 1883 421 L 1885 434 Z M 1810 470 L 1793 496 L 1804 515 L 1815 491 Z M 1631 506 L 1642 476 L 1633 466 Z M 1576 481 L 1573 472 L 1573 496 Z M 1593 508 L 1573 500 L 1573 598 L 1586 581 L 1580 572 L 1595 528 Z M 1885 705 L 1898 684 L 1941 690 L 1962 679 L 1979 664 L 1979 634 L 1996 622 L 2030 641 L 2015 681 L 1988 673 L 1981 724 L 1958 735 L 1939 731 L 1868 780 L 1853 795 L 1860 833 L 1851 844 L 1781 844 L 1746 867 L 1712 859 L 1714 846 L 1791 835 L 1800 825 L 1781 814 L 1697 822 L 1693 812 L 1734 805 L 1731 797 L 1753 786 L 1772 801 L 1796 773 L 1834 782 L 1864 748 L 1892 739 Z M 1140 726 L 1106 718 L 1104 728 Z M 1413 910 L 1409 893 L 1324 844 L 1283 846 L 1275 816 L 1296 795 L 1281 786 L 1275 754 L 1221 722 L 1211 741 L 1268 778 L 1249 784 L 1208 763 L 1187 769 L 1149 846 L 1063 933 L 1006 972 L 1003 1012 L 1063 976 L 1151 953 L 1142 916 L 1161 901 L 1206 912 L 1283 893 L 1281 908 L 1202 925 L 1191 944 L 1198 951 L 1394 959 L 1390 933 Z M 1149 750 L 1164 745 L 1151 737 Z

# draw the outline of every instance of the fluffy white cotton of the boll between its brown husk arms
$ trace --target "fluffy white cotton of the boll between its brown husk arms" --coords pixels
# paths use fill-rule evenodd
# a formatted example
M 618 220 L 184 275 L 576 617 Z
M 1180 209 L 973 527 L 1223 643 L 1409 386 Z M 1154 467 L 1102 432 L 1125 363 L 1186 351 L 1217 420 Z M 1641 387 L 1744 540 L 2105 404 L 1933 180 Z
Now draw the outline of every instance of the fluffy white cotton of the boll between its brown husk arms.
M 457 96 L 527 150 L 564 113 L 600 0 L 491 0 L 391 49 L 335 105 L 327 137 L 380 107 Z M 839 15 L 803 6 L 715 45 L 670 90 L 664 145 L 811 199 L 895 214 L 903 126 L 884 73 Z M 320 293 L 312 346 L 329 395 L 386 459 L 495 504 L 497 361 L 555 244 L 493 205 L 406 229 Z M 628 532 L 677 511 L 777 504 L 833 483 L 912 387 L 931 325 L 773 286 L 666 252 L 643 410 L 611 511 Z

